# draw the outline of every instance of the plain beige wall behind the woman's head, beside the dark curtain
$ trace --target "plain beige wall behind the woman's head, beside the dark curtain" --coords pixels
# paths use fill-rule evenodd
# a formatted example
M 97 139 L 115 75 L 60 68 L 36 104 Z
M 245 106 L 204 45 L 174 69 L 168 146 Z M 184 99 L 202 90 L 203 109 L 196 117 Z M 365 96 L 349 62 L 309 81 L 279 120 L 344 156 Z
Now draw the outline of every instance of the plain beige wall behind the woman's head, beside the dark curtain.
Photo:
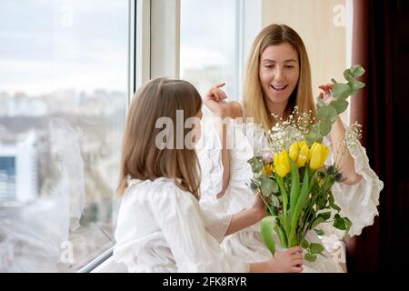
M 331 78 L 344 82 L 350 64 L 347 27 L 351 11 L 348 0 L 263 0 L 263 27 L 289 25 L 303 38 L 310 59 L 314 96 L 318 85 Z M 349 35 L 348 35 L 349 36 Z M 343 115 L 347 122 L 347 113 Z

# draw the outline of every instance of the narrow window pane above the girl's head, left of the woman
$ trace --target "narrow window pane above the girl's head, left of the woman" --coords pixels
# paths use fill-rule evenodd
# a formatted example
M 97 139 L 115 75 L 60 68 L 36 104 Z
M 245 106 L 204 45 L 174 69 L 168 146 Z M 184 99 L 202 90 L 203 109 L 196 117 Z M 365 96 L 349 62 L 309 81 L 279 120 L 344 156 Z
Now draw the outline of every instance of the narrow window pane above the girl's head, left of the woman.
M 230 100 L 240 99 L 240 4 L 181 0 L 180 76 L 202 95 L 224 82 Z

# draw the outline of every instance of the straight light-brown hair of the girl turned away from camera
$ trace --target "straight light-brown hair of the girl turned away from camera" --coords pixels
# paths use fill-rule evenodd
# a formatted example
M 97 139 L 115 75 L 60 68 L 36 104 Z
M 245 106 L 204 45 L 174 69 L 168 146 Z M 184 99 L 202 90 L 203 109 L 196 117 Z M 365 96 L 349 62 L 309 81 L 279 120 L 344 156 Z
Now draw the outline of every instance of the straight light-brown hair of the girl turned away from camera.
M 201 172 L 195 149 L 186 146 L 160 149 L 156 137 L 164 129 L 155 127 L 160 117 L 168 117 L 176 133 L 180 130 L 176 128 L 176 111 L 183 110 L 184 119 L 187 119 L 197 115 L 201 107 L 202 98 L 195 86 L 182 80 L 157 78 L 135 93 L 126 121 L 117 196 L 124 194 L 128 177 L 151 181 L 168 177 L 183 190 L 199 197 Z M 184 125 L 185 120 L 178 126 L 184 127 L 185 141 L 190 129 Z M 176 145 L 177 135 L 165 137 L 173 139 Z

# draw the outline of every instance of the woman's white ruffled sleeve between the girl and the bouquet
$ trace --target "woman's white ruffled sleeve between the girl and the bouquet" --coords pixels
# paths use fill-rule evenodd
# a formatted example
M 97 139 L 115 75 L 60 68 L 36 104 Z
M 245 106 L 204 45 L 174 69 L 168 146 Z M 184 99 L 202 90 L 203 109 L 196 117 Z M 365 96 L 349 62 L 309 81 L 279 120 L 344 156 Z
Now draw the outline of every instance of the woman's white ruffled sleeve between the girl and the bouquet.
M 253 123 L 230 120 L 227 128 L 230 180 L 224 196 L 217 199 L 223 186 L 221 141 L 214 127 L 214 118 L 205 121 L 198 155 L 202 167 L 200 203 L 214 213 L 234 214 L 253 204 L 254 194 L 248 186 L 253 172 L 248 160 L 266 145 L 266 137 L 261 127 Z

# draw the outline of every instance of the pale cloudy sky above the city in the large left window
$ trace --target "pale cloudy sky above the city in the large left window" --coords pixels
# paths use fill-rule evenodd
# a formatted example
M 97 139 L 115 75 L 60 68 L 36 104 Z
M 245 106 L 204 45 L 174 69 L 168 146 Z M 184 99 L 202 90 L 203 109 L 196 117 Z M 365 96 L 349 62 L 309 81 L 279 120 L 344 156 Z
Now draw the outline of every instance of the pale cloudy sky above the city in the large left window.
M 0 92 L 126 92 L 127 0 L 0 1 Z

